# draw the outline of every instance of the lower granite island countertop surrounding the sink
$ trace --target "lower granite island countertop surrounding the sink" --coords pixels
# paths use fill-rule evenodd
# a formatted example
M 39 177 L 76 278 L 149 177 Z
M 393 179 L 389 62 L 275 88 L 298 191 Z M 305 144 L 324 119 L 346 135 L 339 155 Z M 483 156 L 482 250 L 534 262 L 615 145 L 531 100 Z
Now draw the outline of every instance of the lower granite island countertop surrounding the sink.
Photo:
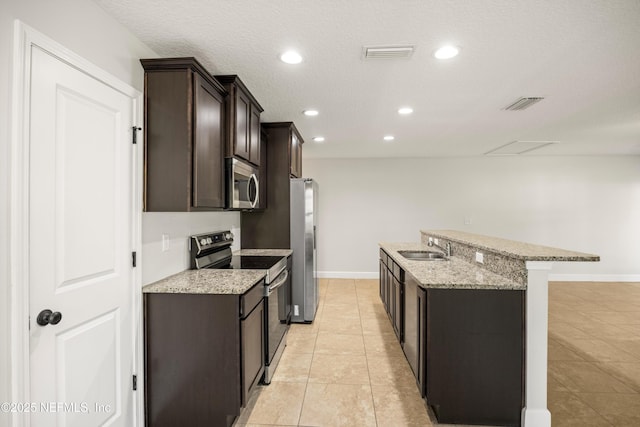
M 514 282 L 462 259 L 451 256 L 448 261 L 411 261 L 398 253 L 402 250 L 438 251 L 421 243 L 380 243 L 384 251 L 405 272 L 415 277 L 425 289 L 502 289 L 525 290 Z

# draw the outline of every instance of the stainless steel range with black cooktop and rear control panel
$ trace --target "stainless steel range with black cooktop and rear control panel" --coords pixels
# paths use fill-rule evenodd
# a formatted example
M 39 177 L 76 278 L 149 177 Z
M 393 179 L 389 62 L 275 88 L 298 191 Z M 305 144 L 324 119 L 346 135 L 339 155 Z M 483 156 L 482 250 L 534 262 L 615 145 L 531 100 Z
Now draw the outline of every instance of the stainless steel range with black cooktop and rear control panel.
M 230 231 L 191 236 L 191 269 L 218 268 L 266 270 L 265 277 L 265 374 L 269 384 L 287 342 L 291 323 L 291 258 L 269 255 L 233 255 Z

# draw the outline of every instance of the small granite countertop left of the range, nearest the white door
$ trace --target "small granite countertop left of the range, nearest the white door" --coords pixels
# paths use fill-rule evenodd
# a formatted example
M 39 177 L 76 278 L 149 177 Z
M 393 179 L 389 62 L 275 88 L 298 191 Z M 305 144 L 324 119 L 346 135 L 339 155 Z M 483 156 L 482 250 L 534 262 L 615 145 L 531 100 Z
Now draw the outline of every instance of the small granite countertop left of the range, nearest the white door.
M 237 294 L 262 280 L 266 270 L 186 270 L 142 288 L 150 294 Z

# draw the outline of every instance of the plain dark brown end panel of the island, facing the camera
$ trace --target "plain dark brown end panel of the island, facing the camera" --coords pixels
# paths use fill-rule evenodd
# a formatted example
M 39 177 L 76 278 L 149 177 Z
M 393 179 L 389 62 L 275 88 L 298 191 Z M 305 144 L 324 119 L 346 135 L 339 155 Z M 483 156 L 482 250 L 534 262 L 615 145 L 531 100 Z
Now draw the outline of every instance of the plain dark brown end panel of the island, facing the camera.
M 520 426 L 524 291 L 427 290 L 427 403 L 446 424 Z

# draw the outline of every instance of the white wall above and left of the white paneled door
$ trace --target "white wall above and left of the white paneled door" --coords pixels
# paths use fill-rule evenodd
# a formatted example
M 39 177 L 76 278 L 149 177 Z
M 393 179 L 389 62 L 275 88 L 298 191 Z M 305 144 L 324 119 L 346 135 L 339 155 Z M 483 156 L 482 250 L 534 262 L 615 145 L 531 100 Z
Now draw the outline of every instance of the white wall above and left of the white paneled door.
M 138 58 L 155 56 L 89 0 L 2 0 L 0 7 L 0 402 L 10 401 L 10 135 L 14 20 L 44 33 L 135 88 L 143 89 Z M 24 286 L 25 284 L 17 284 Z M 0 426 L 9 424 L 0 414 Z

